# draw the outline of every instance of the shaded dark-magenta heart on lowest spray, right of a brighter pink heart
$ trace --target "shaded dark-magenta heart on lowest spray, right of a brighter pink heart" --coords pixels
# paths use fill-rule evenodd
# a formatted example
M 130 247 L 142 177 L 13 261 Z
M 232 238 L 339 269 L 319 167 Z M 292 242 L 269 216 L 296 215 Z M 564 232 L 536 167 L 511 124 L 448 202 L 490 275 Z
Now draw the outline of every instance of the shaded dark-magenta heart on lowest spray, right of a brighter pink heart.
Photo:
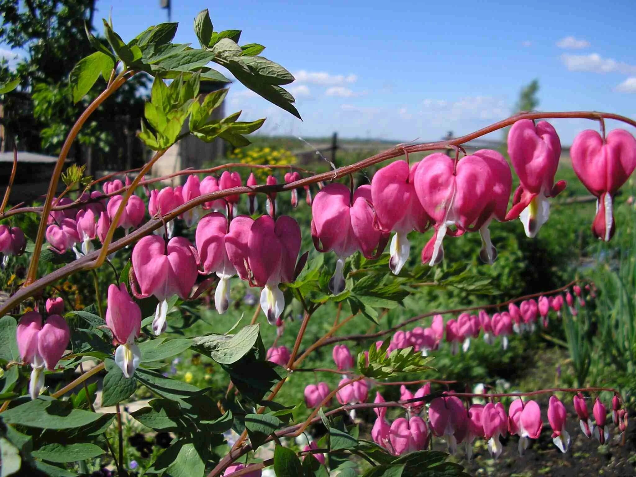
M 468 415 L 459 397 L 436 397 L 429 406 L 429 421 L 434 435 L 442 437 L 448 445 L 448 452 L 457 452 L 457 444 L 468 433 Z

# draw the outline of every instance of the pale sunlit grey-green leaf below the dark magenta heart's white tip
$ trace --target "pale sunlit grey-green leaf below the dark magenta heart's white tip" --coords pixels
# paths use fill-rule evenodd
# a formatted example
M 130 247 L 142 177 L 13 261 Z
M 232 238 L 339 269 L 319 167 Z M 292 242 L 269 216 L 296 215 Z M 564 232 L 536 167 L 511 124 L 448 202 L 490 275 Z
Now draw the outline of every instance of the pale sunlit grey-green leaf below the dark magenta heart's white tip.
M 193 345 L 219 364 L 236 363 L 250 352 L 259 336 L 259 324 L 245 326 L 236 335 L 208 335 L 193 339 Z

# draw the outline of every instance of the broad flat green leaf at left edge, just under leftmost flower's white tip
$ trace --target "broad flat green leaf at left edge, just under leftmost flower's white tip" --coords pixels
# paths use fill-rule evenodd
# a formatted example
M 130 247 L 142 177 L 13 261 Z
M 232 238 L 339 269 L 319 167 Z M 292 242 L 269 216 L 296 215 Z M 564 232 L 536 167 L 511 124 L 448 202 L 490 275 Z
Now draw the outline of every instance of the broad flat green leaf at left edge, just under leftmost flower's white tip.
M 40 397 L 3 412 L 7 424 L 20 424 L 40 429 L 72 429 L 95 422 L 103 414 L 73 409 L 71 403 Z

